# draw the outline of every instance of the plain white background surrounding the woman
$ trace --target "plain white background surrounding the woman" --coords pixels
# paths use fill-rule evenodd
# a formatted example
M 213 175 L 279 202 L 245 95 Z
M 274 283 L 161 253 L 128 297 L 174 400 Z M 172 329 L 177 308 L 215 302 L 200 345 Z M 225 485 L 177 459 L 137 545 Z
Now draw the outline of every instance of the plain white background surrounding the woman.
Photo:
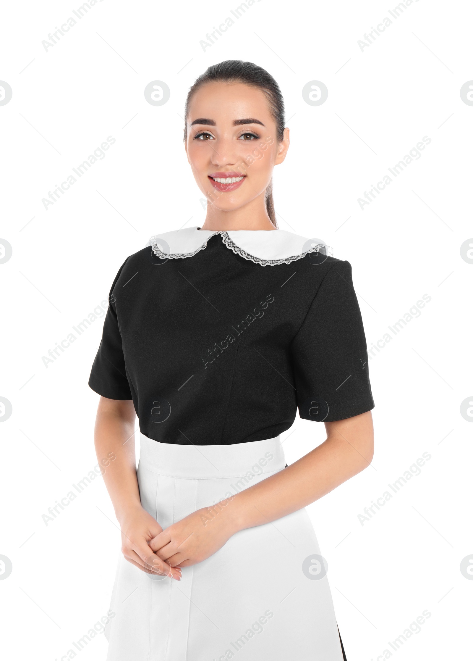
M 3 7 L 0 79 L 13 89 L 0 106 L 0 237 L 13 247 L 0 264 L 0 395 L 13 407 L 0 446 L 0 554 L 13 563 L 0 580 L 5 656 L 59 660 L 108 610 L 120 533 L 102 479 L 42 520 L 96 463 L 98 395 L 87 381 L 103 319 L 47 368 L 42 356 L 107 299 L 151 235 L 203 222 L 184 99 L 208 65 L 245 59 L 285 97 L 279 227 L 322 237 L 349 260 L 368 346 L 431 297 L 369 362 L 373 465 L 309 508 L 347 658 L 470 658 L 473 581 L 460 561 L 473 553 L 473 425 L 460 404 L 473 400 L 473 265 L 460 245 L 473 241 L 473 106 L 460 87 L 473 79 L 472 8 L 419 0 L 394 20 L 395 3 L 262 0 L 204 51 L 205 34 L 237 6 L 103 0 L 47 51 L 42 40 L 79 4 Z M 392 25 L 362 51 L 384 17 Z M 163 106 L 143 95 L 154 80 L 170 87 Z M 312 80 L 328 87 L 321 106 L 302 97 Z M 106 157 L 46 210 L 42 198 L 107 136 L 116 142 Z M 421 157 L 361 210 L 358 198 L 423 136 Z M 324 440 L 324 426 L 297 417 L 283 436 L 291 463 Z M 423 453 L 420 475 L 361 525 L 363 508 Z M 421 631 L 394 652 L 388 642 L 425 610 Z M 104 659 L 106 647 L 98 635 L 77 653 Z

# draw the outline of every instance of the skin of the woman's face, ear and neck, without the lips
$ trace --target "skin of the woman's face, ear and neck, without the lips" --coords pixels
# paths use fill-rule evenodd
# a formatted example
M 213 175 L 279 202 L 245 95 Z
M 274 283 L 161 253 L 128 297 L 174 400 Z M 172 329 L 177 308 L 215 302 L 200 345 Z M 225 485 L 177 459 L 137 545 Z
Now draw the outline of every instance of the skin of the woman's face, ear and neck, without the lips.
M 288 149 L 289 129 L 278 141 L 260 89 L 242 83 L 203 85 L 190 104 L 186 139 L 192 174 L 208 201 L 201 229 L 275 229 L 265 192 Z M 215 172 L 242 174 L 244 181 L 236 190 L 221 191 L 209 178 Z

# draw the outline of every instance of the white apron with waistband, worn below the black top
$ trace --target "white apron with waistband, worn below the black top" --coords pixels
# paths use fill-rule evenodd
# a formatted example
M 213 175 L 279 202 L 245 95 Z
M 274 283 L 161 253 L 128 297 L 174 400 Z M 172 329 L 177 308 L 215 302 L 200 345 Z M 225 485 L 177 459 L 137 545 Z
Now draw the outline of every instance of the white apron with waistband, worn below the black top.
M 279 436 L 184 446 L 141 434 L 141 504 L 164 529 L 284 468 Z M 182 568 L 180 581 L 146 574 L 120 555 L 107 660 L 343 661 L 327 576 L 314 555 L 320 549 L 305 509 L 236 533 Z

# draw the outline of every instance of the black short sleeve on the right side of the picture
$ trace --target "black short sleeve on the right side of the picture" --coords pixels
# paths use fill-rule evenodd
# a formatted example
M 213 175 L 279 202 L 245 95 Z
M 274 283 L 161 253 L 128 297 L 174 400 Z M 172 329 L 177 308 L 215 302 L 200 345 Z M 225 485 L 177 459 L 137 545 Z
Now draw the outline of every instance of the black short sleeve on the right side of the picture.
M 374 408 L 351 264 L 324 276 L 291 344 L 299 416 L 333 422 Z

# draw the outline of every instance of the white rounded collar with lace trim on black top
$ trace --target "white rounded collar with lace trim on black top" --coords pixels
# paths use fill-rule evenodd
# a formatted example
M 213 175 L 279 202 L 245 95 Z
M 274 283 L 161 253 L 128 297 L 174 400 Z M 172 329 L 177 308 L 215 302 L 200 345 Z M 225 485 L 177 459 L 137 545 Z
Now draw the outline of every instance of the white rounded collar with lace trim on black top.
M 234 253 L 261 266 L 289 264 L 308 253 L 332 254 L 322 239 L 307 239 L 283 229 L 211 231 L 186 227 L 157 234 L 147 245 L 161 259 L 182 259 L 203 250 L 215 234 L 221 235 L 223 243 Z

